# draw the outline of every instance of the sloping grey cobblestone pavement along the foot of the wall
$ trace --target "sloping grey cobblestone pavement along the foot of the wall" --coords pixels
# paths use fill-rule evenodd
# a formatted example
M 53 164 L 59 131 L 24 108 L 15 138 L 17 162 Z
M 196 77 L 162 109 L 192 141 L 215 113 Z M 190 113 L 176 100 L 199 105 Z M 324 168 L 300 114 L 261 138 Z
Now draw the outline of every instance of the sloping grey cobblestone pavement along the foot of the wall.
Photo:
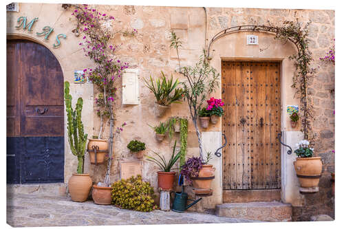
M 7 223 L 15 227 L 243 222 L 252 221 L 197 212 L 136 212 L 115 206 L 97 205 L 93 201 L 78 203 L 71 201 L 69 197 L 12 193 L 7 197 Z

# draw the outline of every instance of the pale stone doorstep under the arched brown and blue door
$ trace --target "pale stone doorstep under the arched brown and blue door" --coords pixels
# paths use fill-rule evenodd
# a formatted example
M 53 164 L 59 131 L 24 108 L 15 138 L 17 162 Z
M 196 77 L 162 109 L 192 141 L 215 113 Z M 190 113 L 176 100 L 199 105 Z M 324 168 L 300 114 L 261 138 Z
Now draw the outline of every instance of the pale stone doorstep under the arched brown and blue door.
M 67 184 L 7 184 L 7 193 L 39 194 L 44 196 L 66 196 Z

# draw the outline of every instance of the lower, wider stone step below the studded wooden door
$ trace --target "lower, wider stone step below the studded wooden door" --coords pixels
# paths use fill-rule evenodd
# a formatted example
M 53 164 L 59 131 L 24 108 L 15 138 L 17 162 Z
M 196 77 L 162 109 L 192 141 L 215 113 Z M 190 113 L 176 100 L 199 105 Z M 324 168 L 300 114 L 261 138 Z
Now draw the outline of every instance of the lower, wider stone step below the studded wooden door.
M 292 206 L 278 201 L 226 203 L 217 205 L 215 214 L 235 219 L 284 222 L 292 221 Z

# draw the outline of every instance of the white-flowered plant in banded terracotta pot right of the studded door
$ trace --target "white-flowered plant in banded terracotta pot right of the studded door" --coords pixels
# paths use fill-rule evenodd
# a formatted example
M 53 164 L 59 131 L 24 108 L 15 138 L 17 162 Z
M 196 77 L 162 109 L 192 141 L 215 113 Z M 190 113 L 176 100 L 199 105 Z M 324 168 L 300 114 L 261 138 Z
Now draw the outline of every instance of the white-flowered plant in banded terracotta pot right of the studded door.
M 302 140 L 297 143 L 297 160 L 294 162 L 294 168 L 299 177 L 301 188 L 316 188 L 319 185 L 321 170 L 323 164 L 321 157 L 313 157 L 314 149 L 310 148 L 308 140 Z

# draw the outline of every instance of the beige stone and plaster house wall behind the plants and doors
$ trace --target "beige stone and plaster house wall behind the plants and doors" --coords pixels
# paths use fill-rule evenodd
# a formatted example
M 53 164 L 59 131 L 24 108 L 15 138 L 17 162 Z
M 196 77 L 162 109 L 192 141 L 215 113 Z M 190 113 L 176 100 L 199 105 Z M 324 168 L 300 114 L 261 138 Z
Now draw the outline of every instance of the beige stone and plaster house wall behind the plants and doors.
M 311 215 L 327 214 L 334 217 L 332 204 L 330 173 L 334 172 L 334 65 L 322 63 L 319 58 L 325 56 L 326 52 L 332 47 L 334 39 L 334 11 L 332 10 L 275 10 L 275 9 L 252 9 L 252 8 L 177 8 L 177 7 L 154 7 L 154 6 L 95 6 L 100 12 L 110 14 L 115 17 L 116 22 L 109 26 L 115 30 L 138 30 L 134 37 L 116 36 L 114 43 L 122 44 L 118 55 L 122 61 L 129 62 L 129 68 L 139 70 L 139 95 L 140 105 L 122 105 L 121 89 L 118 90 L 116 100 L 116 125 L 127 122 L 127 127 L 120 138 L 116 138 L 114 145 L 114 164 L 111 168 L 111 181 L 120 179 L 120 162 L 136 160 L 127 149 L 127 143 L 134 139 L 146 142 L 147 152 L 156 151 L 162 155 L 170 155 L 174 140 L 179 139 L 175 134 L 173 139 L 166 138 L 162 143 L 155 141 L 153 130 L 148 124 L 155 125 L 159 121 L 164 121 L 171 116 L 182 116 L 191 120 L 186 102 L 171 105 L 171 110 L 161 118 L 155 118 L 153 113 L 153 94 L 144 86 L 142 78 L 152 76 L 158 78 L 163 71 L 166 76 L 173 76 L 184 80 L 175 73 L 178 67 L 176 53 L 170 49 L 169 33 L 174 30 L 182 41 L 180 50 L 181 64 L 193 65 L 202 54 L 204 45 L 208 46 L 211 38 L 217 32 L 237 25 L 267 25 L 267 21 L 279 24 L 286 20 L 293 20 L 294 15 L 299 21 L 305 23 L 312 21 L 309 30 L 310 50 L 314 57 L 314 67 L 319 66 L 319 71 L 310 82 L 309 94 L 312 96 L 314 104 L 314 119 L 312 126 L 316 134 L 314 149 L 316 156 L 321 156 L 324 162 L 323 174 L 319 186 L 319 193 L 314 195 L 300 195 L 298 190 L 294 190 L 293 195 L 285 195 L 284 200 L 291 203 L 294 208 L 294 215 L 297 220 L 310 220 Z M 31 39 L 47 46 L 61 63 L 65 80 L 72 82 L 73 72 L 76 69 L 92 67 L 94 64 L 83 55 L 82 47 L 78 43 L 82 39 L 76 37 L 71 32 L 76 23 L 71 15 L 71 10 L 63 10 L 61 4 L 26 4 L 20 3 L 19 12 L 8 12 L 7 33 L 8 39 L 25 38 Z M 26 16 L 30 21 L 34 17 L 39 17 L 33 27 L 34 32 L 27 30 L 17 30 L 14 26 L 18 17 Z M 207 23 L 206 23 L 207 22 Z M 43 37 L 35 36 L 45 25 L 54 27 L 56 33 L 64 32 L 67 39 L 61 41 L 61 47 L 52 48 L 53 41 L 44 41 Z M 246 34 L 259 35 L 259 45 L 247 47 Z M 211 48 L 211 65 L 221 72 L 221 60 L 243 59 L 259 61 L 273 60 L 281 61 L 281 102 L 282 117 L 281 130 L 290 132 L 292 136 L 299 136 L 300 125 L 296 129 L 290 127 L 290 122 L 286 116 L 286 105 L 298 105 L 299 100 L 294 98 L 294 89 L 290 87 L 294 66 L 288 59 L 293 54 L 295 47 L 290 43 L 276 41 L 273 34 L 262 32 L 245 32 L 224 36 L 216 41 Z M 118 83 L 121 88 L 121 83 Z M 96 116 L 96 107 L 93 106 L 96 91 L 92 84 L 71 85 L 71 93 L 74 98 L 83 96 L 83 122 L 85 130 L 91 135 L 98 135 L 100 120 Z M 215 91 L 213 95 L 221 98 L 221 89 Z M 76 99 L 75 99 L 76 100 Z M 226 101 L 225 101 L 226 102 Z M 219 139 L 221 135 L 221 122 L 206 129 L 204 144 L 206 149 L 215 150 L 219 145 L 209 145 L 209 139 Z M 211 135 L 214 133 L 214 135 Z M 105 133 L 105 137 L 108 133 Z M 203 137 L 202 137 L 203 138 Z M 67 139 L 67 138 L 66 138 Z M 295 139 L 289 138 L 288 144 L 294 146 Z M 65 182 L 76 170 L 76 157 L 69 152 L 67 140 L 65 140 Z M 218 141 L 216 141 L 218 142 Z M 208 144 L 208 145 L 207 145 Z M 179 143 L 178 143 L 179 146 Z M 282 150 L 283 152 L 283 150 Z M 151 154 L 151 153 L 149 153 Z M 188 133 L 188 153 L 187 156 L 198 154 L 197 136 L 192 122 L 189 122 Z M 286 158 L 288 155 L 286 156 Z M 292 157 L 290 157 L 292 158 Z M 290 162 L 290 158 L 288 163 Z M 215 208 L 215 204 L 222 203 L 222 161 L 213 158 L 212 164 L 217 168 L 213 197 L 206 197 L 202 201 L 202 206 L 197 205 L 193 210 L 204 211 Z M 288 164 L 286 162 L 286 164 Z M 289 163 L 290 164 L 290 163 Z M 282 170 L 286 168 L 282 167 Z M 143 177 L 155 187 L 158 186 L 156 173 L 158 168 L 149 162 L 143 162 Z M 85 158 L 85 171 L 90 173 L 94 182 L 102 181 L 105 175 L 105 166 L 94 166 L 89 164 L 88 155 Z M 283 174 L 283 171 L 282 171 Z M 284 175 L 294 176 L 288 179 L 296 179 L 294 173 Z M 286 178 L 285 178 L 286 179 Z M 286 186 L 288 186 L 286 182 Z M 297 185 L 297 183 L 295 183 Z M 282 185 L 283 186 L 283 185 Z M 284 190 L 289 190 L 288 187 Z M 283 192 L 283 191 L 282 191 Z M 286 194 L 286 193 L 285 193 Z M 283 195 L 283 194 L 282 194 Z M 291 197 L 292 196 L 292 197 Z M 158 198 L 157 198 L 158 200 Z M 282 197 L 283 200 L 283 197 Z M 197 209 L 196 209 L 197 208 Z M 321 212 L 314 213 L 321 208 Z M 305 213 L 306 212 L 306 213 Z M 313 212 L 313 213 L 312 213 Z

